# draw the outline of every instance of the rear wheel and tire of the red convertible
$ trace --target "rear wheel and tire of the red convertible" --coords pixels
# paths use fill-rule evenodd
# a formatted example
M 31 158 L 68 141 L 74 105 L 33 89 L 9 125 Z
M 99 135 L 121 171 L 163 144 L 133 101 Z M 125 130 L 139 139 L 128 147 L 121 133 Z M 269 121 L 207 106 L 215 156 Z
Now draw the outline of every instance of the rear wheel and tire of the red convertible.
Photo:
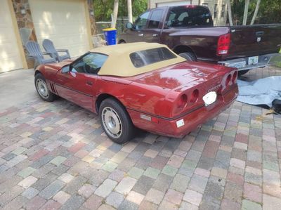
M 123 144 L 133 138 L 135 127 L 128 112 L 114 98 L 107 98 L 100 103 L 98 115 L 103 130 L 115 143 Z

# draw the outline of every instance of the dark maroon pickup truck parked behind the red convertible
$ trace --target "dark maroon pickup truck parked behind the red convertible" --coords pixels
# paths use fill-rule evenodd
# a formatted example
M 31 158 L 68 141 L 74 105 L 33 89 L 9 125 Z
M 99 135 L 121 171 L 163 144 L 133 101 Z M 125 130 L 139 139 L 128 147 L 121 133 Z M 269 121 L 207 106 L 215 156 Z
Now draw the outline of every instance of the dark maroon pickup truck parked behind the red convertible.
M 237 67 L 241 75 L 280 55 L 281 24 L 214 27 L 205 6 L 165 6 L 129 22 L 118 43 L 136 41 L 166 44 L 187 60 Z

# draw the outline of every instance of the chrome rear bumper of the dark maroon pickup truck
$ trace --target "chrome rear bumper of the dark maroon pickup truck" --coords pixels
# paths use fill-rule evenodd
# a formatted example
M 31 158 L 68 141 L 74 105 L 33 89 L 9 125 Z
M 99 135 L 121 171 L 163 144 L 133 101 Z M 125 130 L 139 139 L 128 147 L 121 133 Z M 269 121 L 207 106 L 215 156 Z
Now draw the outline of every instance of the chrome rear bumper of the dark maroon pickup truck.
M 266 67 L 267 65 L 270 64 L 270 60 L 277 56 L 280 56 L 280 53 L 270 53 L 265 55 L 254 56 L 254 57 L 258 57 L 259 59 L 258 63 L 256 64 L 249 64 L 249 58 L 253 58 L 253 57 L 237 58 L 233 60 L 223 60 L 223 61 L 219 61 L 218 63 L 221 65 L 225 65 L 227 67 L 236 67 L 238 71 L 243 71 L 243 70 L 251 70 L 259 67 Z

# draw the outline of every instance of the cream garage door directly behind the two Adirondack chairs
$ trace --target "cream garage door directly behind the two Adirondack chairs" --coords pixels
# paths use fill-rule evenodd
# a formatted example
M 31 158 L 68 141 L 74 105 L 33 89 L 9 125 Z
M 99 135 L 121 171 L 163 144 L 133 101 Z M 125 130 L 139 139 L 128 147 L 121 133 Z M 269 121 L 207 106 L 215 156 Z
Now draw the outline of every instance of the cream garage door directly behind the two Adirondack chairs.
M 38 43 L 53 41 L 77 56 L 89 51 L 89 34 L 83 0 L 30 0 Z

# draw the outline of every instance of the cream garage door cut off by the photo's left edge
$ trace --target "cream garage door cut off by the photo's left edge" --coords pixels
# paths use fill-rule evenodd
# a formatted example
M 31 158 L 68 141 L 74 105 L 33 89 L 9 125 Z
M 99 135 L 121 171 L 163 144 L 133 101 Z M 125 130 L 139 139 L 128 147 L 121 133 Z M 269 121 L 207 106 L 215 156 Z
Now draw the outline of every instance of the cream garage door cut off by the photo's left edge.
M 22 68 L 8 1 L 0 0 L 0 72 Z

